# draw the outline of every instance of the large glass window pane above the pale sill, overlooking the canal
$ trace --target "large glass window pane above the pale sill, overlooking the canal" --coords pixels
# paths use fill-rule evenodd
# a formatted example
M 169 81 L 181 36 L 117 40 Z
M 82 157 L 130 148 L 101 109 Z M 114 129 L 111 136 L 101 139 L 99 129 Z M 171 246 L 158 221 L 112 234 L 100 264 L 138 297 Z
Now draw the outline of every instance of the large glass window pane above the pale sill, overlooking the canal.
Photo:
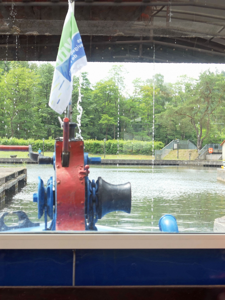
M 28 16 L 27 2 L 6 2 L 2 233 L 225 232 L 225 6 L 217 2 L 75 2 L 74 52 L 70 39 L 59 45 L 66 2 L 54 19 L 51 3 Z M 88 64 L 59 114 L 49 107 L 57 53 L 63 61 L 81 47 Z

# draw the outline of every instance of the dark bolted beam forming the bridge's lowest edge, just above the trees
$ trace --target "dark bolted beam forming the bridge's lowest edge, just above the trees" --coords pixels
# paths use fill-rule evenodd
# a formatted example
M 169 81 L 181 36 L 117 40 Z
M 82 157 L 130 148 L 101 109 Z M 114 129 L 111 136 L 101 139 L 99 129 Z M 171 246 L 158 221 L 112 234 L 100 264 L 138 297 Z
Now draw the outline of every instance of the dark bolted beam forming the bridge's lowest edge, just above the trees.
M 84 37 L 84 40 L 89 37 Z M 48 43 L 44 37 L 40 37 L 38 43 L 35 44 L 35 37 L 30 37 L 31 43 L 26 45 L 26 41 L 20 41 L 20 43 L 15 45 L 15 38 L 13 36 L 9 37 L 9 40 L 12 44 L 2 45 L 4 48 L 0 49 L 0 60 L 40 60 L 40 61 L 55 61 L 57 56 L 59 43 L 52 43 L 55 39 L 54 36 L 48 37 Z M 37 39 L 37 38 L 36 38 Z M 100 39 L 98 37 L 97 39 Z M 103 37 L 104 39 L 104 37 Z M 33 41 L 33 43 L 32 43 Z M 23 42 L 23 43 L 22 43 Z M 51 43 L 49 43 L 51 42 Z M 139 42 L 143 42 L 140 41 Z M 176 47 L 163 47 L 159 44 L 160 41 L 156 42 L 156 52 L 155 52 L 155 62 L 186 62 L 186 63 L 225 63 L 223 56 L 212 55 L 215 54 L 215 51 L 210 53 L 193 52 L 193 49 L 188 51 L 183 51 L 182 48 Z M 126 62 L 126 61 L 150 61 L 153 62 L 153 48 L 150 47 L 151 43 L 142 44 L 142 55 L 139 55 L 138 47 L 135 47 L 135 44 L 129 46 L 127 44 L 120 45 L 116 44 L 113 47 L 108 47 L 109 45 L 101 45 L 96 47 L 96 44 L 93 43 L 91 47 L 92 56 L 89 57 L 89 47 L 85 45 L 85 52 L 87 55 L 88 61 L 103 61 L 103 62 Z M 91 46 L 91 45 L 90 45 Z M 111 45 L 110 45 L 111 46 Z M 27 48 L 26 48 L 27 47 Z M 36 48 L 36 50 L 35 50 Z M 129 48 L 129 49 L 128 49 Z M 135 50 L 136 48 L 136 50 Z M 152 49 L 151 49 L 152 48 Z M 38 51 L 37 51 L 38 49 Z M 129 51 L 128 51 L 129 50 Z M 6 55 L 7 54 L 7 55 Z M 28 55 L 26 55 L 28 54 Z

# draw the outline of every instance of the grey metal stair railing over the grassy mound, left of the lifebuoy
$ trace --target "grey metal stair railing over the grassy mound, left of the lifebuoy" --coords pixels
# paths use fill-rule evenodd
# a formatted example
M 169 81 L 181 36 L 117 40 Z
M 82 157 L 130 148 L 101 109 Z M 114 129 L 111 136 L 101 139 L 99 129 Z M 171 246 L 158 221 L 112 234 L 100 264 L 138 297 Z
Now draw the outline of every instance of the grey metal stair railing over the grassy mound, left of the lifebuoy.
M 166 145 L 162 150 L 155 150 L 155 159 L 163 159 L 170 151 L 174 150 L 174 144 L 177 144 L 178 140 L 173 140 Z M 179 140 L 179 149 L 197 149 L 197 147 L 189 140 Z

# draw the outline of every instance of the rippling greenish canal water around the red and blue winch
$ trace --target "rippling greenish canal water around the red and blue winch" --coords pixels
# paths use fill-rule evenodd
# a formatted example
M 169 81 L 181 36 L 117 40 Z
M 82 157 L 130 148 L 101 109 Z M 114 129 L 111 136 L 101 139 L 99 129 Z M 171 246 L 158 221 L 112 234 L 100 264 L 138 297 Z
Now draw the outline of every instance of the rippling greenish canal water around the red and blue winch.
M 23 210 L 32 221 L 38 221 L 37 203 L 32 202 L 38 176 L 46 185 L 54 170 L 27 164 L 27 176 L 27 184 L 2 202 L 0 211 Z M 216 180 L 213 167 L 155 166 L 152 173 L 152 166 L 91 166 L 89 179 L 99 176 L 113 184 L 129 181 L 132 189 L 131 214 L 112 212 L 98 221 L 101 225 L 158 232 L 160 217 L 172 214 L 180 232 L 212 232 L 214 219 L 225 215 L 225 184 Z M 13 214 L 5 219 L 7 224 L 17 222 Z

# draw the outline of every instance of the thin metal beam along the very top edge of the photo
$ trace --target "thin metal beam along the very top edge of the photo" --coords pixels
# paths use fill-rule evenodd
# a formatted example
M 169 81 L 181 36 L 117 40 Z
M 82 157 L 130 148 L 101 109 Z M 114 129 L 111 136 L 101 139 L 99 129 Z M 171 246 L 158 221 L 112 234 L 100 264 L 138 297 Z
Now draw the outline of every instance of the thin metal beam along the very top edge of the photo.
M 75 1 L 74 6 L 195 6 L 225 10 L 225 6 L 201 2 L 158 1 L 158 2 L 82 2 Z M 0 6 L 68 6 L 67 2 L 1 2 Z

